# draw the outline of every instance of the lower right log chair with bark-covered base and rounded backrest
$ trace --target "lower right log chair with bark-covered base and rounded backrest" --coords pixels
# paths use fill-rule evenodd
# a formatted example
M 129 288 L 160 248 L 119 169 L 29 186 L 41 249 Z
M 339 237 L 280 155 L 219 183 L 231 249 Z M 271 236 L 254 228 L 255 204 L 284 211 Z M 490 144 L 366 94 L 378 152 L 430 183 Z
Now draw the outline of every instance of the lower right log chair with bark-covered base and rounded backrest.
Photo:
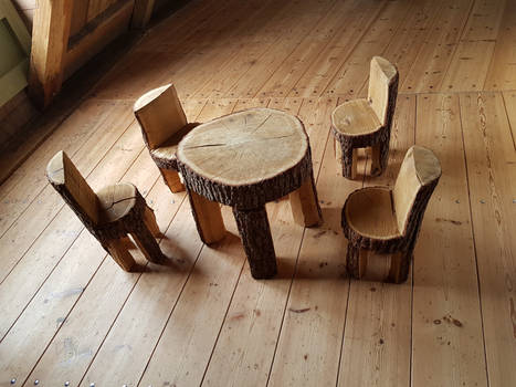
M 435 155 L 413 146 L 407 151 L 393 189 L 368 187 L 349 195 L 343 209 L 343 229 L 349 241 L 346 260 L 350 275 L 364 275 L 368 251 L 373 250 L 392 254 L 389 281 L 407 280 L 424 210 L 440 177 Z

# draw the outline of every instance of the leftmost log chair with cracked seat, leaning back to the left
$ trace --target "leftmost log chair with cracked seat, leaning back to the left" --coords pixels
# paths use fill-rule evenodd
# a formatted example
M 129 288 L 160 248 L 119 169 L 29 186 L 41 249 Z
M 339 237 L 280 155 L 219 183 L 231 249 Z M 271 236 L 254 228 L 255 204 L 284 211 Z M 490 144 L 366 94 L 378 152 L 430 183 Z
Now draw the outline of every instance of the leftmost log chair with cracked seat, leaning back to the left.
M 134 185 L 116 184 L 95 194 L 62 150 L 50 160 L 46 176 L 122 269 L 130 271 L 135 264 L 123 241 L 128 233 L 147 260 L 162 262 L 165 257 L 155 240 L 160 232 L 154 211 Z

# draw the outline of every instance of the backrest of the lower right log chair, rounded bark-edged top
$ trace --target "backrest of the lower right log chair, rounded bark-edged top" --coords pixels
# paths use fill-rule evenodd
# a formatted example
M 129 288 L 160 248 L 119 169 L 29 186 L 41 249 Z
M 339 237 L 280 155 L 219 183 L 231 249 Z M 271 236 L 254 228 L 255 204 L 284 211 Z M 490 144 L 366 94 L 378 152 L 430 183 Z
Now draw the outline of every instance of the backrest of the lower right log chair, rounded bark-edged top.
M 410 222 L 422 220 L 440 177 L 441 164 L 432 150 L 413 146 L 407 151 L 392 191 L 398 230 L 401 234 L 407 233 Z

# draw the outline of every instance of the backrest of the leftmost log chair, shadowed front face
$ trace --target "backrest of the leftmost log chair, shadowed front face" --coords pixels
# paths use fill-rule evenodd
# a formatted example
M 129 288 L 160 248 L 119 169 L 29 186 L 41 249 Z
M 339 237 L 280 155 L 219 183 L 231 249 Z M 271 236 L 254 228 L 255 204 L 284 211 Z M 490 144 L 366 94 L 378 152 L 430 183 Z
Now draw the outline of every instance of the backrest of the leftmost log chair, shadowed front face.
M 98 223 L 98 198 L 63 150 L 46 165 L 46 177 L 83 222 Z

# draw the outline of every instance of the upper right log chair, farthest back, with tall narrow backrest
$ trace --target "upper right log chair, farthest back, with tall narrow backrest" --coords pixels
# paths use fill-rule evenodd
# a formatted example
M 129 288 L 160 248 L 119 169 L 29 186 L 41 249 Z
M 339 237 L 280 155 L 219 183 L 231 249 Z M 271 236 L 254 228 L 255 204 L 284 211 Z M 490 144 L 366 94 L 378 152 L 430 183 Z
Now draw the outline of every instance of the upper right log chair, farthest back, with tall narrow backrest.
M 397 95 L 398 70 L 383 57 L 372 57 L 367 100 L 346 102 L 331 113 L 335 153 L 343 176 L 356 178 L 358 148 L 370 151 L 372 176 L 386 169 Z

